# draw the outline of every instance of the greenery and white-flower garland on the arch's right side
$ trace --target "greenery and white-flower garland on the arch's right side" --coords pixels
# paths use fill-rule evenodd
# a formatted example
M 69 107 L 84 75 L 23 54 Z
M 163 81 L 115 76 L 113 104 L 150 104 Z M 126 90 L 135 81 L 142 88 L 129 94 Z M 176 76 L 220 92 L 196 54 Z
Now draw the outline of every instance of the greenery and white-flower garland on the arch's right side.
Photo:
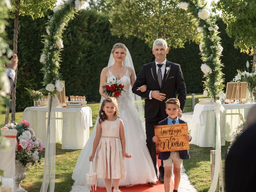
M 203 1 L 204 2 L 204 1 Z M 222 92 L 224 67 L 220 61 L 221 52 L 223 50 L 218 36 L 218 26 L 216 18 L 206 8 L 206 4 L 201 4 L 199 0 L 182 0 L 179 7 L 187 10 L 198 20 L 197 31 L 202 34 L 200 38 L 200 54 L 204 64 L 201 65 L 201 70 L 204 72 L 204 94 L 211 96 L 216 100 L 216 96 Z

